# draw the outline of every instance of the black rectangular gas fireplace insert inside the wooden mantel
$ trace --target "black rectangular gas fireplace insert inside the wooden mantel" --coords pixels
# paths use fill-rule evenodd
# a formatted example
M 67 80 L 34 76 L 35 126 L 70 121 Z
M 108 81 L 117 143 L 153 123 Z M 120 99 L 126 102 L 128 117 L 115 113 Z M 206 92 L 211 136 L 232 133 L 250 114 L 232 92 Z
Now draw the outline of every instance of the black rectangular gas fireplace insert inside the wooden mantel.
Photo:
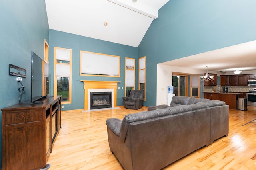
M 90 110 L 112 107 L 112 92 L 90 92 Z

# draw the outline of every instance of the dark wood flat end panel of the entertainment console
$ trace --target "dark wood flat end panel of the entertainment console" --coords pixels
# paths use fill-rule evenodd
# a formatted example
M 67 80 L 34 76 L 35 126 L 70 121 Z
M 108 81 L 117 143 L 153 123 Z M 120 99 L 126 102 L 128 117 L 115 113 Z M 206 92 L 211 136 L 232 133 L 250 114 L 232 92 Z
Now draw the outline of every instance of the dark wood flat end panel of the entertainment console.
M 46 164 L 42 109 L 3 112 L 3 170 L 32 170 Z

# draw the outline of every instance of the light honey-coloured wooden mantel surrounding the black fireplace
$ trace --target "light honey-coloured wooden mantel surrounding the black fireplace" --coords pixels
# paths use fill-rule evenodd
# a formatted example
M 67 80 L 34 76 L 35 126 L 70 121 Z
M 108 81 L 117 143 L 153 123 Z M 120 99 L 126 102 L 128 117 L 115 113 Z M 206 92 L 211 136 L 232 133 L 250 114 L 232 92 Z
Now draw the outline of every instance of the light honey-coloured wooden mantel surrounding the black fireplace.
M 84 82 L 84 110 L 88 110 L 88 89 L 114 89 L 114 103 L 113 106 L 116 107 L 116 90 L 117 83 L 113 81 L 88 81 L 80 80 Z

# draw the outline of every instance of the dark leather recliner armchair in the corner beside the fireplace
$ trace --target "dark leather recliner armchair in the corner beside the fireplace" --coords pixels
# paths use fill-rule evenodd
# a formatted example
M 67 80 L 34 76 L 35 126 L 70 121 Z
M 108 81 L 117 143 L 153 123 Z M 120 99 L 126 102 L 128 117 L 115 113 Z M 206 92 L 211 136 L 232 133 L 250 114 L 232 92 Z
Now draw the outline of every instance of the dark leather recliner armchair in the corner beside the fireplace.
M 132 90 L 129 97 L 123 97 L 124 108 L 140 109 L 143 106 L 144 91 Z

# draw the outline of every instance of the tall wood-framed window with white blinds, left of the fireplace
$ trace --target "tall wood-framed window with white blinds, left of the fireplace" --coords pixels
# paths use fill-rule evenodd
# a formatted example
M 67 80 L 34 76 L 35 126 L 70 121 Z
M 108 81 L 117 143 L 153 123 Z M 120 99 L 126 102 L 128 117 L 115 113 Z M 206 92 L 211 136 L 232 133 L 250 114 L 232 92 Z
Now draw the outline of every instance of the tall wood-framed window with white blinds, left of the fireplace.
M 62 103 L 71 103 L 72 49 L 54 47 L 54 95 Z

